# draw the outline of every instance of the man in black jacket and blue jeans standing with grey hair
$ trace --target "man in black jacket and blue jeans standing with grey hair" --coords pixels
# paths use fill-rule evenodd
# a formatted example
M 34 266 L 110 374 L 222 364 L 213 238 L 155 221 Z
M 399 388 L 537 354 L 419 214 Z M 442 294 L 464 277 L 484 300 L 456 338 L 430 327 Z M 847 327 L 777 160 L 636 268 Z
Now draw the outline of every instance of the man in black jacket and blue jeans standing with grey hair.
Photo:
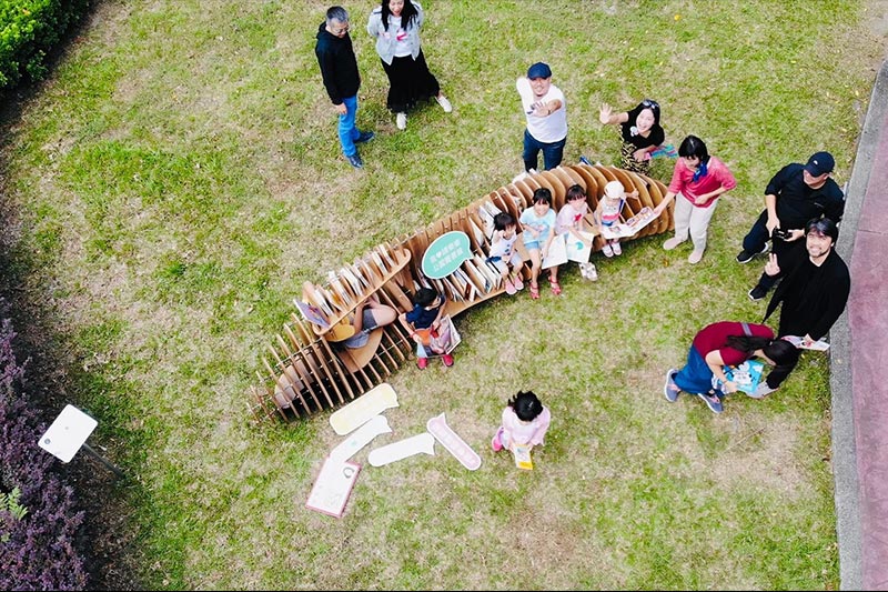
M 357 113 L 357 89 L 361 76 L 357 73 L 357 59 L 349 37 L 349 12 L 342 7 L 331 7 L 326 20 L 317 28 L 317 43 L 314 54 L 321 66 L 321 77 L 330 100 L 340 116 L 340 143 L 345 159 L 355 169 L 364 162 L 355 144 L 373 139 L 372 131 L 362 132 L 355 126 Z

